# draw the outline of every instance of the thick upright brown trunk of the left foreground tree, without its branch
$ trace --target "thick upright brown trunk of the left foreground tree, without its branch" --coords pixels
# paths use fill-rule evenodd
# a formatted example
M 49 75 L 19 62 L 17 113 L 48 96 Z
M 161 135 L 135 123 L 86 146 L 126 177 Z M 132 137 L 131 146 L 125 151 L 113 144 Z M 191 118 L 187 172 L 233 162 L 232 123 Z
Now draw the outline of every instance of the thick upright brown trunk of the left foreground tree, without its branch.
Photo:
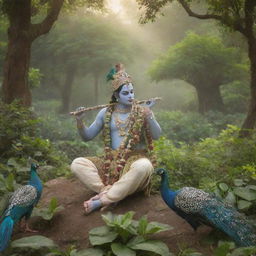
M 9 13 L 8 48 L 4 62 L 3 101 L 19 99 L 31 105 L 28 69 L 32 40 L 29 37 L 31 0 L 13 1 Z

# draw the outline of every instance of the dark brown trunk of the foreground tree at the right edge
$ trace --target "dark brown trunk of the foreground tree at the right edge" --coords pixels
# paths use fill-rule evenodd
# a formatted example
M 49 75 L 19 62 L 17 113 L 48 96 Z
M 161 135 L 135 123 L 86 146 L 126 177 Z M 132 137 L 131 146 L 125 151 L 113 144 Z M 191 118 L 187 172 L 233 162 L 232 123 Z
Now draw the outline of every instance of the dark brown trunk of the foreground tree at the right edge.
M 250 89 L 251 89 L 251 99 L 248 109 L 247 116 L 242 125 L 240 131 L 240 137 L 247 137 L 250 135 L 250 129 L 255 127 L 256 122 L 256 40 L 252 38 L 248 39 L 249 52 L 248 56 L 250 59 Z

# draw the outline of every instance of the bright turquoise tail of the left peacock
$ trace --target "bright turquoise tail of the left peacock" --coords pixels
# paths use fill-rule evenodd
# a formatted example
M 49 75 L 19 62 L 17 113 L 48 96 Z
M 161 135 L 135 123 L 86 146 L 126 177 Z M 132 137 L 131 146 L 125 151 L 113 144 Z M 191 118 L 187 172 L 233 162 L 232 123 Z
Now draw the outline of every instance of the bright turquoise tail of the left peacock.
M 4 251 L 11 239 L 14 222 L 10 216 L 4 218 L 0 225 L 0 252 Z

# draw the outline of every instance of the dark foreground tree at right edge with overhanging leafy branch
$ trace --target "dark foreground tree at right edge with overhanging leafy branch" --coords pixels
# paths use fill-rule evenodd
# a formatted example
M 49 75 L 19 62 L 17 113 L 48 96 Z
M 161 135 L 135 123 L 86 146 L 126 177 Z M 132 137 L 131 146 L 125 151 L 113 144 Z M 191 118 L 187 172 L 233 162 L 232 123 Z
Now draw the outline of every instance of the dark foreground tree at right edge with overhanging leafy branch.
M 145 8 L 145 15 L 141 22 L 155 20 L 157 14 L 161 12 L 164 6 L 174 0 L 137 0 L 141 7 Z M 256 0 L 204 0 L 206 11 L 204 14 L 195 12 L 191 7 L 196 1 L 177 0 L 189 16 L 198 19 L 214 19 L 224 27 L 241 33 L 248 45 L 248 57 L 250 60 L 250 90 L 251 99 L 247 116 L 242 125 L 241 136 L 248 136 L 249 131 L 253 129 L 256 123 Z

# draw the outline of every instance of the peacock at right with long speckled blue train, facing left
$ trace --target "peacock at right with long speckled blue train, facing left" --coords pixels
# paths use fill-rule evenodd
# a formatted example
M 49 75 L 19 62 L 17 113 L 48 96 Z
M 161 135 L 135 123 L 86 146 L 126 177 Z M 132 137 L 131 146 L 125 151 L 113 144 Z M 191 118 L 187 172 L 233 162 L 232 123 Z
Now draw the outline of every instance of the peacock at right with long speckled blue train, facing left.
M 201 224 L 218 228 L 238 246 L 256 246 L 256 230 L 235 208 L 201 189 L 183 187 L 173 191 L 169 187 L 167 171 L 156 169 L 161 176 L 160 192 L 165 203 L 194 230 Z

